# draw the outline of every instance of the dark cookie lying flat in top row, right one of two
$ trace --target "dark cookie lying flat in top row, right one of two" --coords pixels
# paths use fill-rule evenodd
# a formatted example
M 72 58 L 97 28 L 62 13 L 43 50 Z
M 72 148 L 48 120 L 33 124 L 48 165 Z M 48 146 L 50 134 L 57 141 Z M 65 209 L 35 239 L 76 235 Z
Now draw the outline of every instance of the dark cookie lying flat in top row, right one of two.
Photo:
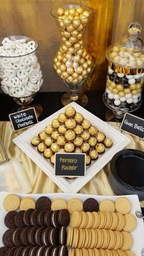
M 96 199 L 88 198 L 85 200 L 83 208 L 85 212 L 90 211 L 92 213 L 93 211 L 99 210 L 99 203 Z

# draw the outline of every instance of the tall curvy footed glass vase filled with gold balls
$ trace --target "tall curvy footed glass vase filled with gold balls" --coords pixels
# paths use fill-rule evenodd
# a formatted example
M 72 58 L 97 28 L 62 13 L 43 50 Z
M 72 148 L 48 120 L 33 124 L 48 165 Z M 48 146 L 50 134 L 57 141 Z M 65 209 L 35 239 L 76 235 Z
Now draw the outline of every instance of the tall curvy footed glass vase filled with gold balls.
M 65 106 L 75 101 L 85 106 L 88 98 L 84 93 L 77 93 L 88 75 L 92 73 L 93 60 L 84 46 L 84 31 L 92 10 L 85 5 L 63 5 L 51 11 L 60 29 L 62 43 L 54 57 L 54 70 L 70 88 L 70 93 L 62 97 Z

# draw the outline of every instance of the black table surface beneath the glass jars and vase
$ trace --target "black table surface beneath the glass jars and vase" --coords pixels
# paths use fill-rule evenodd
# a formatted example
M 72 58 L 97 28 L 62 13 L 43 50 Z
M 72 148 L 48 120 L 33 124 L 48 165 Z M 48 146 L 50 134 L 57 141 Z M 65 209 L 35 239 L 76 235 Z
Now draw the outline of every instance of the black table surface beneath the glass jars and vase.
M 54 112 L 58 111 L 63 107 L 61 103 L 61 98 L 64 92 L 38 92 L 34 103 L 40 103 L 43 108 L 43 113 L 40 115 L 38 120 L 43 120 Z M 90 91 L 86 92 L 88 97 L 88 103 L 84 107 L 88 111 L 92 112 L 92 114 L 96 115 L 100 119 L 106 121 L 106 112 L 107 107 L 103 103 L 103 93 L 104 90 Z M 0 93 L 0 121 L 8 121 L 9 114 L 12 112 L 16 112 L 18 109 L 18 105 L 13 101 L 12 97 L 5 95 L 4 93 Z M 143 103 L 142 106 L 137 110 L 132 112 L 132 114 L 137 117 L 141 117 L 144 119 L 144 94 L 143 94 Z

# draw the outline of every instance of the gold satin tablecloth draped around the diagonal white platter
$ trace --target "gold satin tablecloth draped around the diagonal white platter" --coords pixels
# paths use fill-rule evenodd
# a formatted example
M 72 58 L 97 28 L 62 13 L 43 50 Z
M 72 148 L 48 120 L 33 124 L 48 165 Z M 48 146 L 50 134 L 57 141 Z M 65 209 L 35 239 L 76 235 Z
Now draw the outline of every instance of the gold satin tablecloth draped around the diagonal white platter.
M 109 122 L 109 125 L 120 131 L 120 123 Z M 42 170 L 25 154 L 20 148 L 14 143 L 13 139 L 25 130 L 14 132 L 10 122 L 0 122 L 0 137 L 4 144 L 7 155 L 10 158 L 15 158 L 23 163 L 24 173 L 26 174 L 27 180 L 31 185 L 31 193 L 53 193 L 62 192 L 62 190 L 44 173 Z M 123 134 L 131 138 L 131 143 L 127 148 L 135 148 L 137 150 L 144 150 L 144 141 L 138 137 L 132 136 L 131 134 Z M 80 191 L 83 194 L 94 194 L 103 196 L 112 196 L 114 192 L 109 185 L 108 179 L 109 164 L 105 166 L 95 177 L 92 178 Z M 12 183 L 10 186 L 12 187 Z M 14 183 L 15 184 L 15 183 Z M 13 185 L 15 186 L 15 185 Z M 13 187 L 13 191 L 15 188 Z M 144 201 L 142 202 L 144 207 Z

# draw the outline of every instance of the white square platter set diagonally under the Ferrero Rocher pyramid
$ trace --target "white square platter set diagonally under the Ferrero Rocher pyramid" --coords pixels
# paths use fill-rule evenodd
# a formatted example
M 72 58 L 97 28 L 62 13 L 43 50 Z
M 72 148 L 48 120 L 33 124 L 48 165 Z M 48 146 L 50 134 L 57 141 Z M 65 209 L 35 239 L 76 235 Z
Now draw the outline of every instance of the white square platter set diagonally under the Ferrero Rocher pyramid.
M 110 137 L 113 141 L 112 147 L 106 149 L 102 155 L 99 155 L 96 161 L 92 161 L 92 163 L 86 167 L 85 177 L 74 178 L 73 180 L 65 177 L 56 177 L 54 175 L 54 166 L 50 163 L 49 159 L 44 158 L 43 154 L 39 153 L 37 148 L 32 147 L 31 145 L 32 137 L 37 136 L 40 131 L 45 130 L 46 125 L 51 124 L 52 120 L 56 119 L 60 113 L 65 112 L 65 108 L 68 106 L 73 106 L 77 112 L 81 112 L 85 119 L 90 120 L 92 125 L 98 127 L 99 131 L 104 131 L 106 136 Z M 99 170 L 103 169 L 103 167 L 109 163 L 113 155 L 126 147 L 131 140 L 78 104 L 70 103 L 66 107 L 47 117 L 45 120 L 37 123 L 37 125 L 29 128 L 29 130 L 13 139 L 13 142 L 15 142 L 15 144 L 18 145 L 18 147 L 20 147 L 21 150 L 23 150 L 23 152 L 26 153 L 26 155 L 29 156 L 29 158 L 31 158 L 32 161 L 34 161 L 34 163 L 37 164 L 37 166 L 39 166 L 40 169 L 57 184 L 57 186 L 59 186 L 59 188 L 62 189 L 63 192 L 75 193 L 91 180 L 93 176 L 98 174 Z

